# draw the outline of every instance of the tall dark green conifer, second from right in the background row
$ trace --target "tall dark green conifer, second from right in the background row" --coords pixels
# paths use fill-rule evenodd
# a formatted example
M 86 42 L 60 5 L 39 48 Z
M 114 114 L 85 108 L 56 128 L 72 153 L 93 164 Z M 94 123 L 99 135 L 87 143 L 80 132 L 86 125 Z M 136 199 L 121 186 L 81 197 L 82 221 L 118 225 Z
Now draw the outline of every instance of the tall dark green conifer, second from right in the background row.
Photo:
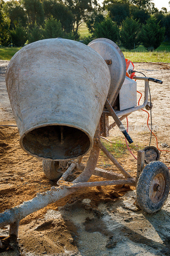
M 120 41 L 125 49 L 132 50 L 138 47 L 140 24 L 137 20 L 126 18 L 123 20 L 122 29 L 120 31 Z

